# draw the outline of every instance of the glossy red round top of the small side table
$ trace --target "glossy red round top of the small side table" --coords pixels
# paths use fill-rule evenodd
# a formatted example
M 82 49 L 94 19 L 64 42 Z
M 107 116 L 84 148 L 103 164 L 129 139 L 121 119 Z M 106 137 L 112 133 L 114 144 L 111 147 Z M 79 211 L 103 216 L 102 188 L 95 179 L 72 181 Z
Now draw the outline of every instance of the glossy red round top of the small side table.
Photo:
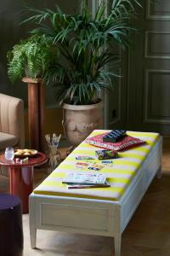
M 20 163 L 20 160 L 23 160 L 23 158 L 14 157 L 14 160 L 6 160 L 5 155 L 0 154 L 0 165 L 10 167 L 40 166 L 47 162 L 48 158 L 45 154 L 38 152 L 35 156 L 29 156 L 27 163 Z

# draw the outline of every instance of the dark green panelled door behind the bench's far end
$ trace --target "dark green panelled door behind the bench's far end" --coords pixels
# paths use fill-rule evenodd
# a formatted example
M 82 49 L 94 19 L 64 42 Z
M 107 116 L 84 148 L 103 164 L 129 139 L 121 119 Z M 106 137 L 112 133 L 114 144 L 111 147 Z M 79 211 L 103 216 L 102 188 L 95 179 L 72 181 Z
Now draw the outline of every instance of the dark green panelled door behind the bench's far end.
M 128 56 L 127 128 L 170 134 L 170 1 L 144 1 Z

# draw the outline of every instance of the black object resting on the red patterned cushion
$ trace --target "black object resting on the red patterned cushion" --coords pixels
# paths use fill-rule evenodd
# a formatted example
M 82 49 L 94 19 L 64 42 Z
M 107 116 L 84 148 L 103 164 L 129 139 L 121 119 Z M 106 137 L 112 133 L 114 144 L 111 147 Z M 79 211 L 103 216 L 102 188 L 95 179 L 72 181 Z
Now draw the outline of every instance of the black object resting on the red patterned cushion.
M 117 143 L 126 135 L 125 130 L 113 130 L 103 137 L 105 143 Z

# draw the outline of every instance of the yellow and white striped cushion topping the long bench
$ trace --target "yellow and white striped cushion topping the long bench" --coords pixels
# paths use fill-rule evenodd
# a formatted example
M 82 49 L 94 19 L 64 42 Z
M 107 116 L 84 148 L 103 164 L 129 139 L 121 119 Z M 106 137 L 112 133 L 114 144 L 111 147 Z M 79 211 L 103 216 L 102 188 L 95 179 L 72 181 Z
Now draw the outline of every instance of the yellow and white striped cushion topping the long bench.
M 95 130 L 89 137 L 105 133 L 104 130 Z M 34 190 L 35 194 L 40 195 L 59 195 L 81 198 L 94 198 L 100 200 L 118 201 L 122 197 L 128 184 L 139 170 L 150 149 L 155 145 L 159 138 L 158 133 L 127 131 L 127 135 L 138 137 L 147 143 L 128 149 L 119 153 L 119 158 L 113 160 L 113 165 L 107 165 L 99 172 L 107 175 L 107 181 L 111 184 L 109 188 L 95 189 L 67 189 L 62 180 L 68 172 L 77 172 L 75 167 L 77 155 L 95 156 L 95 150 L 99 149 L 88 143 L 82 142 L 38 187 Z M 93 160 L 92 160 L 93 161 Z M 99 161 L 99 160 L 95 160 Z M 89 172 L 88 169 L 81 172 Z

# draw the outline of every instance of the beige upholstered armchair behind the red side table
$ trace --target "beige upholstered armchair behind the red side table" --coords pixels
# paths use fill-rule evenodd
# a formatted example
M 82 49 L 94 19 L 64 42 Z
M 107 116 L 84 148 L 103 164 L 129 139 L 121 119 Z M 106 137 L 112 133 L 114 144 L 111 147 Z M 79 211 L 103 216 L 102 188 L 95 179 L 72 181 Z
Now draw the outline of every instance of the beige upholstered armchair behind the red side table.
M 24 102 L 0 93 L 0 152 L 24 148 Z

